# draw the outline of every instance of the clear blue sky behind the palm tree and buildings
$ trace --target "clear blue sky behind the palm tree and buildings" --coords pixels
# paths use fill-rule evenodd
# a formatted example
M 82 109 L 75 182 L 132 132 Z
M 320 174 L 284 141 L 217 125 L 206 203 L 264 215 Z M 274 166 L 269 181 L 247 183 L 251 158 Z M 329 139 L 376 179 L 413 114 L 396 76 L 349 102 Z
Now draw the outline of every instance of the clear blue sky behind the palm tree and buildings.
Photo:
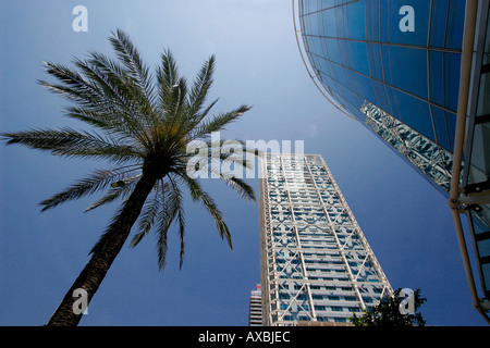
M 75 33 L 72 10 L 88 10 Z M 316 89 L 296 46 L 289 0 L 2 1 L 0 132 L 79 124 L 66 101 L 36 84 L 44 61 L 69 64 L 89 50 L 111 52 L 125 30 L 155 66 L 170 48 L 192 79 L 217 57 L 215 112 L 254 105 L 225 135 L 244 140 L 304 140 L 320 153 L 394 288 L 420 288 L 430 325 L 485 325 L 471 308 L 450 209 L 424 178 Z M 38 203 L 105 163 L 0 147 L 0 325 L 42 325 L 88 261 L 117 206 L 84 213 L 79 200 L 40 213 Z M 256 188 L 258 179 L 248 179 Z M 198 206 L 186 203 L 186 257 L 171 234 L 158 272 L 156 239 L 122 250 L 81 325 L 246 325 L 260 282 L 258 203 L 208 179 L 233 235 L 222 241 Z

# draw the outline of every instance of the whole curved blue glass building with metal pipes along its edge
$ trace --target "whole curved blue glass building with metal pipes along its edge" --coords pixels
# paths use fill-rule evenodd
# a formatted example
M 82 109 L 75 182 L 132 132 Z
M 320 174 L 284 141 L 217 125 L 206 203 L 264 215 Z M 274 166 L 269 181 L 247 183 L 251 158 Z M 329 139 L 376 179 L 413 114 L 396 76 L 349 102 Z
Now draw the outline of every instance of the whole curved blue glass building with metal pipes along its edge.
M 293 8 L 321 92 L 448 197 L 455 215 L 467 212 L 490 298 L 489 0 L 298 0 Z

